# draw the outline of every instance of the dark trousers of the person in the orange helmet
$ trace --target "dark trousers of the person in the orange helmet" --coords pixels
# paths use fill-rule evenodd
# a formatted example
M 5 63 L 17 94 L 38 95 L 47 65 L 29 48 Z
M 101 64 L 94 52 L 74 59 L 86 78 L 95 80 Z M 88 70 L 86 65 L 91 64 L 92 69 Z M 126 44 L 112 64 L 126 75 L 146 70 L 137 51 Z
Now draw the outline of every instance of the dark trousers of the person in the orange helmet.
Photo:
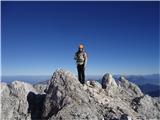
M 84 73 L 84 64 L 83 65 L 77 65 L 77 71 L 78 71 L 78 79 L 79 81 L 84 84 L 85 83 L 85 73 Z

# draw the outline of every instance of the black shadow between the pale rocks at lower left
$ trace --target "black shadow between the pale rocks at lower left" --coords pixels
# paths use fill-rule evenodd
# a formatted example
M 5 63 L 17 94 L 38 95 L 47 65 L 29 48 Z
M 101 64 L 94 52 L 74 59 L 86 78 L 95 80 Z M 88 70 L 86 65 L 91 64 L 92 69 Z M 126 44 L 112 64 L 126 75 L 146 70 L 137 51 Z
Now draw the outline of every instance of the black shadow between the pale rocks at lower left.
M 45 94 L 35 94 L 29 92 L 27 95 L 27 101 L 29 104 L 28 112 L 31 113 L 31 120 L 40 120 L 43 110 L 43 102 Z

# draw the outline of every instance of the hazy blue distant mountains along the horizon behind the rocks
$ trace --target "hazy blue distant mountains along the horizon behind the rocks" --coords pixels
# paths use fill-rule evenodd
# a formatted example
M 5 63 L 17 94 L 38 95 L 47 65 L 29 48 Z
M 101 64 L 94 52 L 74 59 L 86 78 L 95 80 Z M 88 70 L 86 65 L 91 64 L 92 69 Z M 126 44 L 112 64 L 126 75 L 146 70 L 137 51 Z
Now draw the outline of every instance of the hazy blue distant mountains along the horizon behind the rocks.
M 122 75 L 113 75 L 115 79 L 118 79 Z M 160 85 L 160 74 L 150 74 L 150 75 L 123 75 L 128 80 L 130 80 L 133 83 L 136 83 L 138 85 L 143 84 L 154 84 L 154 85 Z M 44 80 L 50 79 L 50 75 L 45 76 L 2 76 L 1 81 L 6 83 L 11 83 L 14 80 L 21 80 L 25 82 L 29 82 L 31 84 L 41 82 Z M 87 75 L 87 80 L 101 80 L 102 76 L 100 75 Z

